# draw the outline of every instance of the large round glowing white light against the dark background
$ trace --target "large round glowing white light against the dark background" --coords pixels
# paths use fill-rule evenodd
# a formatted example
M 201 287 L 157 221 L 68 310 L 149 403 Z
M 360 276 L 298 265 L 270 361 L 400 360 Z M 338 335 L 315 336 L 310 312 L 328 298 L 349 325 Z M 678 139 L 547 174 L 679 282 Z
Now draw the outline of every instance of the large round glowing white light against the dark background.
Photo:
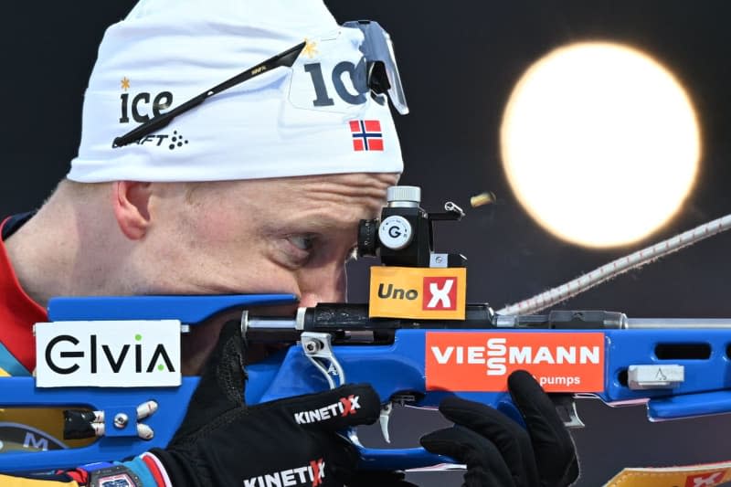
M 626 245 L 661 228 L 694 185 L 701 153 L 680 83 L 640 51 L 558 48 L 518 81 L 503 114 L 515 195 L 559 238 Z

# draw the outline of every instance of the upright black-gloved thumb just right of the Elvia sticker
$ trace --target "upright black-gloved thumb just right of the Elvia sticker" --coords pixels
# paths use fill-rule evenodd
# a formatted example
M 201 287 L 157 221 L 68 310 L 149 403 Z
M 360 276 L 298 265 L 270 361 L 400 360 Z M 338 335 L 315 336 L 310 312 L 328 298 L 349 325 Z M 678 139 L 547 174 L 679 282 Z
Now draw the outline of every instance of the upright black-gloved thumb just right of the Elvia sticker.
M 218 334 L 218 342 L 208 357 L 203 375 L 190 399 L 185 419 L 175 438 L 182 439 L 226 411 L 244 407 L 246 372 L 244 340 L 240 323 L 229 321 Z

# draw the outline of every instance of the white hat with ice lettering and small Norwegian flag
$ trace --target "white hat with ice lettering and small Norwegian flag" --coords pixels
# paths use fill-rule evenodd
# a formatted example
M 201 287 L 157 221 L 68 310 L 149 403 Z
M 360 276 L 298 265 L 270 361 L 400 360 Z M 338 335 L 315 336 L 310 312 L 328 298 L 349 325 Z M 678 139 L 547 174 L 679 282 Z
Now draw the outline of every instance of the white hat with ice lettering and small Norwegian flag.
M 137 143 L 155 114 L 307 38 L 289 68 L 214 95 Z M 359 93 L 363 33 L 321 0 L 141 0 L 104 35 L 83 109 L 79 182 L 400 173 L 385 96 Z M 353 79 L 355 78 L 355 80 Z

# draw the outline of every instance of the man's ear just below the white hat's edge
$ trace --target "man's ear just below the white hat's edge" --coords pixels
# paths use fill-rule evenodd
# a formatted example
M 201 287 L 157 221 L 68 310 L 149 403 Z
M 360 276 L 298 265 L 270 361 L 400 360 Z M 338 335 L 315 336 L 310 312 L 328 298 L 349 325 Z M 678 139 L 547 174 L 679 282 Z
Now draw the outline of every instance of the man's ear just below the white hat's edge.
M 122 233 L 132 240 L 139 240 L 150 226 L 150 183 L 115 181 L 111 184 L 114 217 Z

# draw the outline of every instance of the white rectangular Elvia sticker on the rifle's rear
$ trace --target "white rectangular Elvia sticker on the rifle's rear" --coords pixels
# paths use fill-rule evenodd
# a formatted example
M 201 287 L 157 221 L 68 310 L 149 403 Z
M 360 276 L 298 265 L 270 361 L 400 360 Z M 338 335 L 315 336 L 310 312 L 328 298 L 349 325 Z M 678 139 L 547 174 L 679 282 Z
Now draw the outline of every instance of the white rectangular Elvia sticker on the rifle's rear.
M 180 386 L 180 322 L 36 323 L 36 386 Z

